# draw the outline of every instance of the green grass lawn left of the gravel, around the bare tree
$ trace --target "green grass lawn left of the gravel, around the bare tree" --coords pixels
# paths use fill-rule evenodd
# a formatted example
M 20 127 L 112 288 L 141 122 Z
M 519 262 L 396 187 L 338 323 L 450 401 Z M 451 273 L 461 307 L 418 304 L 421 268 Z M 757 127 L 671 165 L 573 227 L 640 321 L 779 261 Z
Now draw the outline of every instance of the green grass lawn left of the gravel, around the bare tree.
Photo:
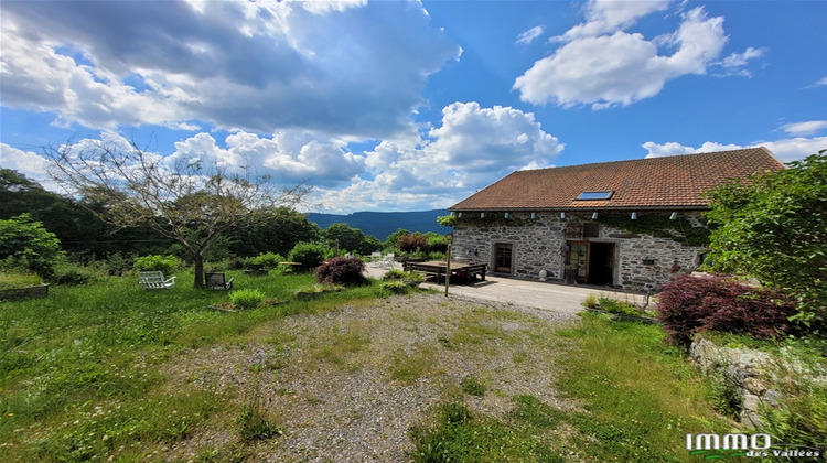
M 143 290 L 128 276 L 0 302 L 3 460 L 138 460 L 208 421 L 238 428 L 233 417 L 239 411 L 227 410 L 237 400 L 224 397 L 230 392 L 164 390 L 159 367 L 184 348 L 244 342 L 264 322 L 372 300 L 377 292 L 373 284 L 310 303 L 293 298 L 296 288 L 312 283 L 310 274 L 228 277 L 234 288 L 290 302 L 238 313 L 208 309 L 228 302 L 233 291 L 193 289 L 192 273 L 179 273 L 168 290 Z M 247 418 L 249 424 L 256 417 Z

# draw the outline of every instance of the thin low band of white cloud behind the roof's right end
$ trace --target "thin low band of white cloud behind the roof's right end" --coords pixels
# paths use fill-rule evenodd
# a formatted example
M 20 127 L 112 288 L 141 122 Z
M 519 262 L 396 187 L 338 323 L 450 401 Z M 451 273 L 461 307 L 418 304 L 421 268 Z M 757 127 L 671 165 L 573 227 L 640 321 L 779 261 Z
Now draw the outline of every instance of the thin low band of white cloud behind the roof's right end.
M 827 149 L 827 137 L 804 138 L 796 137 L 774 141 L 756 141 L 748 146 L 740 144 L 721 144 L 713 141 L 707 141 L 699 148 L 687 147 L 677 142 L 655 143 L 647 141 L 643 148 L 648 151 L 646 158 L 659 158 L 664 155 L 705 153 L 712 151 L 738 150 L 750 147 L 765 147 L 775 154 L 781 162 L 792 162 L 815 154 L 820 150 Z

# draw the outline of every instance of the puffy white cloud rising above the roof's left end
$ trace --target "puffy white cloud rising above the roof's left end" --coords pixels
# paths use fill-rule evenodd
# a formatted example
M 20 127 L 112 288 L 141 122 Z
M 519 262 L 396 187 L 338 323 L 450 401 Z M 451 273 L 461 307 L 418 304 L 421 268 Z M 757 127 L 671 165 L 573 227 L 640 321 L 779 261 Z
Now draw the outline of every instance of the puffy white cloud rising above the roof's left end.
M 444 207 L 524 168 L 546 168 L 562 151 L 530 112 L 454 103 L 427 139 L 384 140 L 366 152 L 369 179 L 322 190 L 334 211 Z

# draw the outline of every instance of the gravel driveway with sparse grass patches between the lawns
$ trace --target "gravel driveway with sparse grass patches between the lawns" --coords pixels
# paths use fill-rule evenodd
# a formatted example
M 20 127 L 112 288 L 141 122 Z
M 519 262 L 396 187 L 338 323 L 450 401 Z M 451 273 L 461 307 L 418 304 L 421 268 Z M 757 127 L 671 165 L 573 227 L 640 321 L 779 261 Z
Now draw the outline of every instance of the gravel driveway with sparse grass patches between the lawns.
M 260 402 L 284 432 L 249 446 L 249 461 L 404 462 L 410 427 L 445 401 L 487 416 L 506 413 L 516 395 L 573 408 L 552 387 L 568 348 L 555 331 L 571 317 L 461 294 L 400 295 L 271 322 L 258 341 L 186 351 L 165 373 L 169 387 L 217 390 L 239 410 Z M 462 392 L 469 375 L 485 385 L 483 397 Z M 232 452 L 236 418 L 211 420 L 164 457 Z

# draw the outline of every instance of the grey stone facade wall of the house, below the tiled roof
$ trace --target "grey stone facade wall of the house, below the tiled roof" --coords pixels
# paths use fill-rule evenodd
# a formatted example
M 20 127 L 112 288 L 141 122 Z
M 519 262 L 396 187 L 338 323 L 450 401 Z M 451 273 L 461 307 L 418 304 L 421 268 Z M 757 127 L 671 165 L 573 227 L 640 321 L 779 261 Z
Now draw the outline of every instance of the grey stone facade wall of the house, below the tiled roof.
M 668 213 L 667 213 L 668 214 Z M 691 213 L 684 218 L 698 226 L 700 214 Z M 475 263 L 487 263 L 494 271 L 494 247 L 496 244 L 511 244 L 513 249 L 512 276 L 537 278 L 546 270 L 548 280 L 565 279 L 567 244 L 566 229 L 571 223 L 591 222 L 588 216 L 569 214 L 560 218 L 559 213 L 536 213 L 531 219 L 528 213 L 511 213 L 509 220 L 504 214 L 487 213 L 495 220 L 485 223 L 474 219 L 468 225 L 454 226 L 453 252 L 455 258 Z M 689 272 L 697 268 L 702 247 L 686 246 L 668 238 L 656 238 L 646 234 L 632 235 L 621 229 L 600 225 L 594 238 L 569 238 L 572 240 L 613 243 L 615 287 L 633 291 L 654 290 L 668 281 L 675 272 Z

